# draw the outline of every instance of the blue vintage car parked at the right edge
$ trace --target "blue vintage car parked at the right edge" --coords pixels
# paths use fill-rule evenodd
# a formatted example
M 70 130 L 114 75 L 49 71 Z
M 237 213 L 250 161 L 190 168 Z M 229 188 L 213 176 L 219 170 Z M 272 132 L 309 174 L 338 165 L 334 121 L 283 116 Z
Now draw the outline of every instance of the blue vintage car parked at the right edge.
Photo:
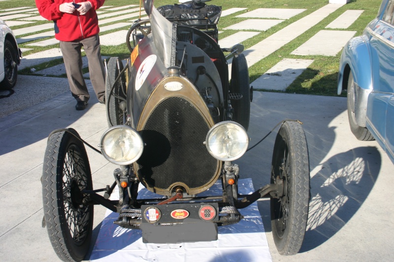
M 353 134 L 375 139 L 394 163 L 394 1 L 383 0 L 378 16 L 344 47 L 338 94 L 343 89 Z

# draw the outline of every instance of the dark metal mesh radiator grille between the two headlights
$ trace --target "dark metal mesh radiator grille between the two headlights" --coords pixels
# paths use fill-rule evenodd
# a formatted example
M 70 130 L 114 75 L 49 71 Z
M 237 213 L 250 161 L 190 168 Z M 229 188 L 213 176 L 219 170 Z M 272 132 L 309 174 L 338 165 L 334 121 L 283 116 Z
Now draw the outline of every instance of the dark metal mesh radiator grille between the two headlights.
M 141 131 L 146 144 L 138 160 L 145 182 L 166 189 L 174 182 L 190 188 L 208 183 L 217 160 L 202 144 L 209 130 L 196 108 L 180 97 L 162 101 Z

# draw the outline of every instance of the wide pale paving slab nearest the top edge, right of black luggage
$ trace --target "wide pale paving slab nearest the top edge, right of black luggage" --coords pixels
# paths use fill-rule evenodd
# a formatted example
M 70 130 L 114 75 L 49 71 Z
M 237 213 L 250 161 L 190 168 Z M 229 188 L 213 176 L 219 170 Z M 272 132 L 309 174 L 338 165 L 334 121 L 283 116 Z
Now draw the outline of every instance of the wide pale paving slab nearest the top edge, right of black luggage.
M 236 17 L 254 17 L 254 18 L 277 18 L 290 19 L 306 9 L 286 9 L 286 8 L 258 8 Z

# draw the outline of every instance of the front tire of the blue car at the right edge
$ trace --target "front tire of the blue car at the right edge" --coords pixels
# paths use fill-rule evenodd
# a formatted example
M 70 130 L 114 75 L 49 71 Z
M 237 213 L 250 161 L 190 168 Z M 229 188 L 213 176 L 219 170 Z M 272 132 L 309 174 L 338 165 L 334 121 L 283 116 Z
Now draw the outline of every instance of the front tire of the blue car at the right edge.
M 352 71 L 349 72 L 348 80 L 348 94 L 347 94 L 347 108 L 348 108 L 348 118 L 350 130 L 353 135 L 361 141 L 371 141 L 374 140 L 372 134 L 366 127 L 359 126 L 356 121 L 356 104 L 357 104 L 357 92 L 354 85 L 354 79 Z

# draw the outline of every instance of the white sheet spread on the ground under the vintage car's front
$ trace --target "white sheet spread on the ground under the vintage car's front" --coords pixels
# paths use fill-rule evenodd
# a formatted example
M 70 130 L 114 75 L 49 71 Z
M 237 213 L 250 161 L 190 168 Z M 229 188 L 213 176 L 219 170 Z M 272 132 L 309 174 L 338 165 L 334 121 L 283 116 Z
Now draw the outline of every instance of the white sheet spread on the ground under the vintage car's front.
M 254 191 L 250 178 L 240 179 L 238 187 L 240 194 L 250 194 Z M 215 184 L 204 193 L 200 196 L 221 195 L 221 185 Z M 155 196 L 158 197 L 145 188 L 138 194 L 141 198 Z M 118 227 L 113 223 L 118 214 L 107 210 L 90 261 L 272 261 L 257 204 L 251 204 L 239 211 L 245 218 L 237 224 L 219 227 L 217 241 L 144 244 L 141 231 Z

